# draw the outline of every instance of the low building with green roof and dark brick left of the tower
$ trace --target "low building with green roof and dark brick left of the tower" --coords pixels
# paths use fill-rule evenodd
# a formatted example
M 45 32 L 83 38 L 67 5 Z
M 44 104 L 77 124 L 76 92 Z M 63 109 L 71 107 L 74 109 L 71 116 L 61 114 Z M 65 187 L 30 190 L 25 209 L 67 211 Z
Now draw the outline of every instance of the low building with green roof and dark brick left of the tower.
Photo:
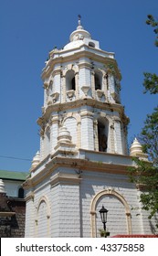
M 25 236 L 26 201 L 22 183 L 27 173 L 0 170 L 0 237 Z

